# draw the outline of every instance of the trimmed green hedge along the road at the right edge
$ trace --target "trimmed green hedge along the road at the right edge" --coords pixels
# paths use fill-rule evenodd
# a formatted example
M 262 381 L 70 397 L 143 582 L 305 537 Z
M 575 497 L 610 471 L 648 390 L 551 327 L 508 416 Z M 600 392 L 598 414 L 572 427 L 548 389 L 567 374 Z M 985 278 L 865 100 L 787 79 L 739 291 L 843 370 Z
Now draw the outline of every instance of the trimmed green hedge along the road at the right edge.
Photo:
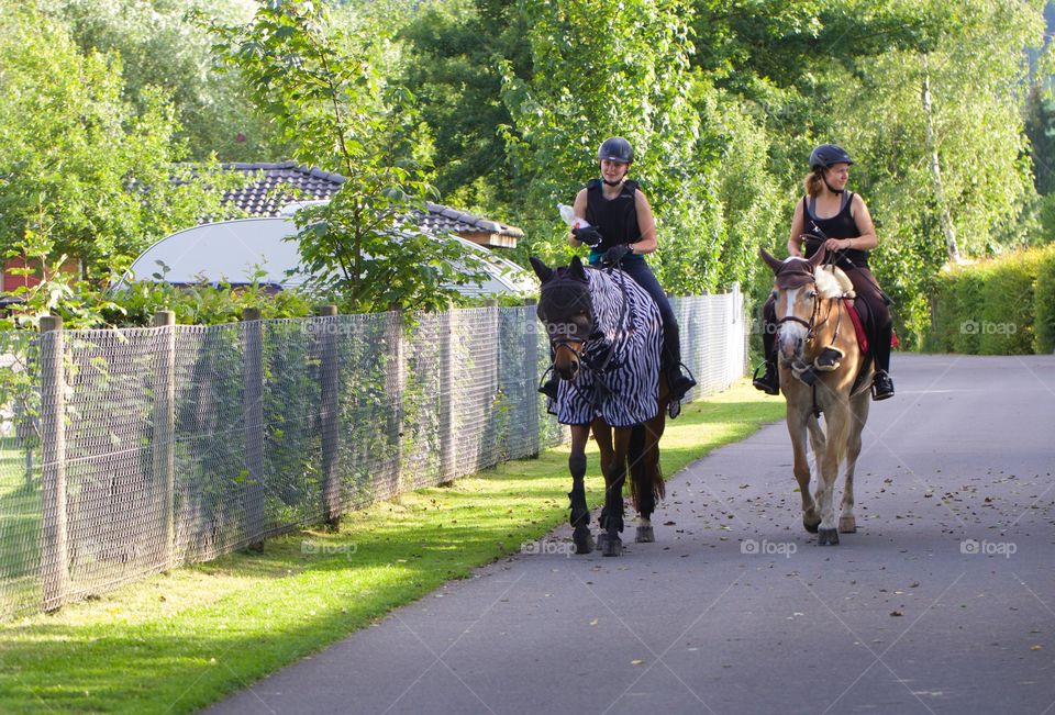
M 1028 355 L 1055 349 L 1055 246 L 937 277 L 923 349 Z

